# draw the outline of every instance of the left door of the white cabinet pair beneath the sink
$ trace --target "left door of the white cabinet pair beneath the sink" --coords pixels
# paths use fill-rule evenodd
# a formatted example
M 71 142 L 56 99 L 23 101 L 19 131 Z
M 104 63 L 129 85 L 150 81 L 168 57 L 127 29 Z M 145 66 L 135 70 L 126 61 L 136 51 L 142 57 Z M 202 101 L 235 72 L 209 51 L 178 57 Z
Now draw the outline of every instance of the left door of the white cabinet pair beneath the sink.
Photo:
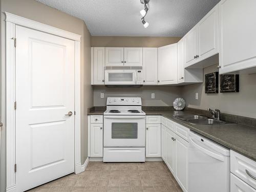
M 175 137 L 176 134 L 166 128 L 166 165 L 170 169 L 173 175 L 175 175 Z

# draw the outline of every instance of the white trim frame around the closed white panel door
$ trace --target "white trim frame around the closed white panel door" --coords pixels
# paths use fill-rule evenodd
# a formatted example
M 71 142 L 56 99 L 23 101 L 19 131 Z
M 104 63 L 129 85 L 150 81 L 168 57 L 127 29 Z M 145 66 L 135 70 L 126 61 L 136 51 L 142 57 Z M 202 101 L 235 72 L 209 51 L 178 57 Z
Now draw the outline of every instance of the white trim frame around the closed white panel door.
M 15 127 L 15 26 L 23 26 L 37 31 L 57 35 L 75 41 L 75 173 L 82 172 L 81 165 L 81 107 L 80 107 L 80 38 L 81 35 L 35 22 L 8 12 L 6 15 L 6 191 L 16 191 L 16 127 Z M 17 166 L 18 171 L 18 166 Z

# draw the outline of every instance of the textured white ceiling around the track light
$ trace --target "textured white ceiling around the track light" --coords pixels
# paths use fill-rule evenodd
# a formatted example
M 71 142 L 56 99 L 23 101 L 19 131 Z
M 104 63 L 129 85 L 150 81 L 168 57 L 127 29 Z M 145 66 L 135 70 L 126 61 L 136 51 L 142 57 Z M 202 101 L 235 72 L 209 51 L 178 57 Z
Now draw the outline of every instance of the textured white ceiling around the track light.
M 144 29 L 140 0 L 36 0 L 76 16 L 92 36 L 184 36 L 220 0 L 151 0 Z

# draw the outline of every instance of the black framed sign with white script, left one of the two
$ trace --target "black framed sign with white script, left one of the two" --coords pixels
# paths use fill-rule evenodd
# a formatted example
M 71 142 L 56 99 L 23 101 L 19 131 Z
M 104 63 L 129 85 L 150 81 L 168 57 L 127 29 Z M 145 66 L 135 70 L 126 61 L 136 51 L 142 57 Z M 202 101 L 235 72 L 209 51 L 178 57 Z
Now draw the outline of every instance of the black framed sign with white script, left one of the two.
M 219 72 L 205 75 L 205 93 L 219 93 Z

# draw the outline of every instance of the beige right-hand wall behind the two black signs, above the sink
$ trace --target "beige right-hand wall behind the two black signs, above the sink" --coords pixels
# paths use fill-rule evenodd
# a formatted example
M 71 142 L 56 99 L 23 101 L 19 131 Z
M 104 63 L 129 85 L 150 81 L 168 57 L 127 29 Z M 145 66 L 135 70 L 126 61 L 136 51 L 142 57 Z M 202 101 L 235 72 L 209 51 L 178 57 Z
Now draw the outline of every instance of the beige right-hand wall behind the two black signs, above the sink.
M 218 71 L 217 65 L 204 69 L 204 74 Z M 240 74 L 239 93 L 205 94 L 204 83 L 184 86 L 182 96 L 191 108 L 220 109 L 223 113 L 256 118 L 256 74 Z M 199 99 L 195 99 L 195 94 Z

